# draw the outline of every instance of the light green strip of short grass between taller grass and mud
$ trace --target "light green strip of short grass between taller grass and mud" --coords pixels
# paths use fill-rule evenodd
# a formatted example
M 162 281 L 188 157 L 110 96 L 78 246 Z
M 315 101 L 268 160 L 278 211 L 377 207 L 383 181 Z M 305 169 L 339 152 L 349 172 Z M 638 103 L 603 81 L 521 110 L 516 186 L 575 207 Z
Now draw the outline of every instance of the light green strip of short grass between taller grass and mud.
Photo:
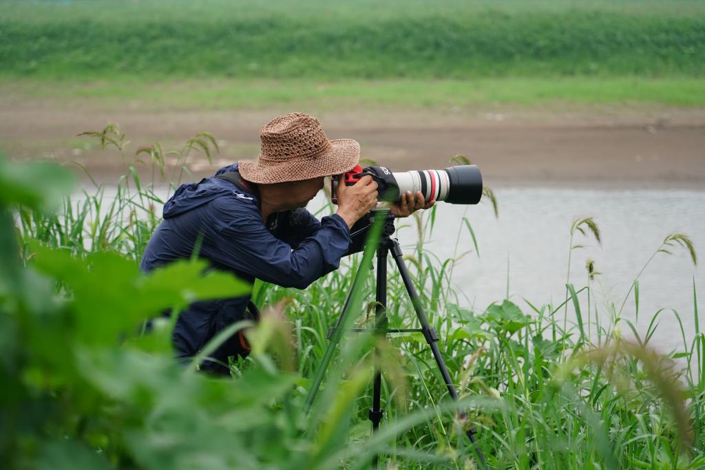
M 495 105 L 704 106 L 699 78 L 479 78 L 472 80 L 11 80 L 0 83 L 6 101 L 80 102 L 100 109 L 227 110 L 486 108 Z

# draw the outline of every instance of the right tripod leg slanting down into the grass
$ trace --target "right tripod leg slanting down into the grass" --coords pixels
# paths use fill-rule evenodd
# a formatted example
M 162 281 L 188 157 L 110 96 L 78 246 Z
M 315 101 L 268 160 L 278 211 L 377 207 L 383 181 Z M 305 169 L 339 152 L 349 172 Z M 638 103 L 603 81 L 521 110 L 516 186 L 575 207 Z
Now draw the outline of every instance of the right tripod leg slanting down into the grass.
M 423 307 L 421 306 L 421 301 L 419 300 L 419 295 L 416 292 L 416 288 L 414 287 L 414 284 L 411 282 L 411 276 L 409 275 L 409 271 L 406 268 L 406 264 L 403 259 L 403 254 L 401 252 L 401 248 L 399 247 L 399 243 L 396 240 L 389 239 L 392 242 L 392 245 L 390 247 L 392 256 L 394 258 L 394 261 L 396 262 L 397 268 L 399 269 L 399 273 L 401 275 L 402 280 L 404 281 L 404 286 L 406 287 L 406 291 L 409 294 L 409 297 L 411 298 L 411 303 L 414 306 L 414 310 L 416 311 L 416 316 L 419 319 L 419 323 L 421 323 L 421 331 L 424 335 L 424 338 L 426 339 L 426 342 L 429 344 L 429 347 L 431 347 L 431 353 L 434 355 L 434 359 L 436 359 L 436 364 L 439 366 L 439 371 L 441 372 L 441 376 L 443 377 L 443 382 L 446 383 L 446 388 L 448 388 L 448 393 L 450 394 L 451 397 L 453 397 L 453 400 L 458 400 L 458 392 L 455 391 L 455 385 L 453 385 L 453 381 L 450 378 L 450 373 L 448 373 L 448 367 L 446 367 L 446 361 L 443 361 L 443 356 L 441 356 L 441 350 L 439 350 L 439 346 L 436 344 L 436 342 L 439 340 L 438 333 L 436 333 L 436 330 L 434 328 L 431 328 L 431 325 L 429 324 L 429 319 L 428 316 L 426 316 L 426 312 L 424 311 Z M 467 414 L 464 412 L 460 414 L 460 419 L 465 419 L 467 417 Z M 470 428 L 467 431 L 467 437 L 470 438 L 470 442 L 474 446 L 474 450 L 477 453 L 477 457 L 479 457 L 480 463 L 482 463 L 482 466 L 486 468 L 486 464 L 484 462 L 484 456 L 482 455 L 482 450 L 477 447 L 475 443 L 475 437 L 474 435 L 477 433 L 477 430 L 475 428 Z

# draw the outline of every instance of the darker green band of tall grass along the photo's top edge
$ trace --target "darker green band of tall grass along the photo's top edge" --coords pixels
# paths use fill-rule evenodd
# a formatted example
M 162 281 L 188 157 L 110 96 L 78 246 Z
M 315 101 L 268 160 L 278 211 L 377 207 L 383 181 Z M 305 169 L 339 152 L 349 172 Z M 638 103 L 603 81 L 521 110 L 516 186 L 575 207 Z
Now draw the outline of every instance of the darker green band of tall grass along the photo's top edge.
M 7 1 L 0 32 L 8 77 L 705 73 L 705 8 L 697 1 Z

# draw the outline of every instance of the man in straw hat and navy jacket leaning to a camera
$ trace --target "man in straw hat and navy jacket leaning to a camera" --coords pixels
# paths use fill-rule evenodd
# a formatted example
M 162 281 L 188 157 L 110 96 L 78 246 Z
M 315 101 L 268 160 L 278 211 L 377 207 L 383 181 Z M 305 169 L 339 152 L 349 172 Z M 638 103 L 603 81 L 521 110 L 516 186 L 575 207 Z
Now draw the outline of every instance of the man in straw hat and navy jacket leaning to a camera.
M 318 221 L 304 209 L 323 187 L 324 177 L 345 173 L 357 164 L 360 144 L 328 140 L 319 121 L 302 113 L 274 118 L 259 136 L 262 150 L 257 163 L 240 161 L 176 190 L 164 204 L 164 221 L 147 244 L 142 271 L 197 252 L 212 268 L 250 283 L 259 278 L 305 289 L 337 269 L 342 256 L 360 251 L 365 230 L 351 229 L 377 202 L 377 185 L 371 177 L 338 187 L 338 210 L 332 216 Z M 431 205 L 424 204 L 421 192 L 415 197 L 407 192 L 391 212 L 405 217 Z M 228 325 L 248 318 L 249 301 L 238 297 L 191 304 L 174 328 L 176 356 L 192 357 Z M 247 352 L 243 336 L 233 335 L 212 354 L 216 360 L 202 367 L 227 373 L 228 357 L 244 357 Z

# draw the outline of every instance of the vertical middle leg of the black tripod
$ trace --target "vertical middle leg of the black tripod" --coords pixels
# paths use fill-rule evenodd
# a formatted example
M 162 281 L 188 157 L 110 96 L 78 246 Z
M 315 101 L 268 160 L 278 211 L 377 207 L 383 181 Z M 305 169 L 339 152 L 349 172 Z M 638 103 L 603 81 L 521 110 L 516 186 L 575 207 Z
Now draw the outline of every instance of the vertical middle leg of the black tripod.
M 374 310 L 375 335 L 379 338 L 387 333 L 387 253 L 388 248 L 380 246 L 377 249 L 377 282 L 376 302 Z M 381 408 L 382 373 L 380 364 L 379 346 L 374 347 L 374 385 L 372 389 L 372 408 L 369 409 L 369 421 L 372 421 L 372 432 L 379 428 L 384 410 Z M 372 468 L 379 465 L 379 454 L 374 454 Z

